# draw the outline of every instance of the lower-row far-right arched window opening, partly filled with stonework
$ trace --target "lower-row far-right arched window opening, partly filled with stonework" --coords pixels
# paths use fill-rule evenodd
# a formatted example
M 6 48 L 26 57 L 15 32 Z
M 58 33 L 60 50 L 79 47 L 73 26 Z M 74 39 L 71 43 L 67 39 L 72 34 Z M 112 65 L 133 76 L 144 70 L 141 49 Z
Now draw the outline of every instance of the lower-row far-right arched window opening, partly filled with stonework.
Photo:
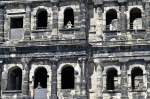
M 132 89 L 137 89 L 140 84 L 143 84 L 143 70 L 139 67 L 135 67 L 131 71 Z

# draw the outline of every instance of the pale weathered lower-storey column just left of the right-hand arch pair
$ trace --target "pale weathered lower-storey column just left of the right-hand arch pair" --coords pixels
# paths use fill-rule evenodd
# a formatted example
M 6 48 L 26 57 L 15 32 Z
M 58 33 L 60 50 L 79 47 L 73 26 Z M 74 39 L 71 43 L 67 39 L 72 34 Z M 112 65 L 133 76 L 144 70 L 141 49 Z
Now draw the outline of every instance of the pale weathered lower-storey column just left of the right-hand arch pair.
M 99 60 L 94 60 L 94 63 L 97 65 L 97 98 L 96 99 L 103 99 L 103 77 L 102 77 L 102 66 L 100 65 Z

